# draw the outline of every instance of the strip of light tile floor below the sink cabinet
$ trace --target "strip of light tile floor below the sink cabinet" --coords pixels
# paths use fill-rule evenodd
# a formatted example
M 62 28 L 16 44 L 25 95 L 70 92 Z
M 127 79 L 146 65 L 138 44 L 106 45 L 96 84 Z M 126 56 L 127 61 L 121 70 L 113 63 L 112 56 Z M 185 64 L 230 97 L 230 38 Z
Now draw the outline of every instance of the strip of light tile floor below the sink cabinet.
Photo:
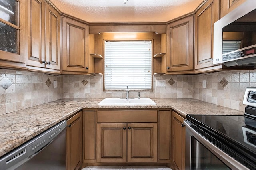
M 82 170 L 172 170 L 166 166 L 87 166 Z

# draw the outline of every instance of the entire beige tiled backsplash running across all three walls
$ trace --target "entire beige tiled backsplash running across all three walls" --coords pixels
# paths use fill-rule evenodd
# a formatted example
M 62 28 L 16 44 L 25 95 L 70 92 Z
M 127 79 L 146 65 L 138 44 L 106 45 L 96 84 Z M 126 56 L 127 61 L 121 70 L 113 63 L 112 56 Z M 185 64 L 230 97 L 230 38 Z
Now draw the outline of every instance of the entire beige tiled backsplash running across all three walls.
M 240 111 L 245 107 L 245 88 L 256 87 L 256 70 L 153 77 L 154 91 L 141 91 L 140 97 L 194 98 Z M 54 80 L 57 88 L 53 88 Z M 166 87 L 156 86 L 157 80 L 165 80 Z M 206 88 L 202 88 L 203 80 Z M 104 92 L 103 76 L 54 76 L 0 69 L 0 95 L 0 114 L 4 114 L 62 98 L 125 97 L 125 91 Z M 137 96 L 138 91 L 130 91 L 130 97 Z

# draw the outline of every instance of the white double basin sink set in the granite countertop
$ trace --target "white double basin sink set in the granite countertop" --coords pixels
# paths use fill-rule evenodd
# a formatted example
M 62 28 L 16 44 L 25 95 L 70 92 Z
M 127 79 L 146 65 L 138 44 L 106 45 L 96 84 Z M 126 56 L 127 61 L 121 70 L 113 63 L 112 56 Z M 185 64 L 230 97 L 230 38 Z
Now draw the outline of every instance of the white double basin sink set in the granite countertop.
M 105 98 L 98 105 L 156 105 L 150 98 Z

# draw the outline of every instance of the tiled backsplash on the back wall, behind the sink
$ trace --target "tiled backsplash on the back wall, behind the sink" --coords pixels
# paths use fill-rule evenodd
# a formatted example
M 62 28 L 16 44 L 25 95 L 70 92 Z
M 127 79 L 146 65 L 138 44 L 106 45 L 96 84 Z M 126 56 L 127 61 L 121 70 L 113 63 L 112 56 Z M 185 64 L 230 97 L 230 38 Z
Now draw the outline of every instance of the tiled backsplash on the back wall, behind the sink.
M 157 87 L 156 80 L 165 80 L 166 87 Z M 172 80 L 172 83 L 168 81 Z M 190 75 L 168 75 L 153 79 L 154 91 L 140 91 L 140 97 L 192 98 L 193 77 Z M 64 75 L 64 98 L 111 98 L 126 97 L 123 91 L 103 91 L 103 76 Z M 138 91 L 129 91 L 130 97 L 138 97 Z

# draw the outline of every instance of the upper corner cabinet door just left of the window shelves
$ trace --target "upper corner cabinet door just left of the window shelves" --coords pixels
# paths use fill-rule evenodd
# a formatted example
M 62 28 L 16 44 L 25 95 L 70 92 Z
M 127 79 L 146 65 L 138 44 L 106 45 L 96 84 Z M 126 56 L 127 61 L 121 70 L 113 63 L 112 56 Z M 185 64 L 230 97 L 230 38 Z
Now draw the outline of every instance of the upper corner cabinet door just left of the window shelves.
M 89 26 L 62 18 L 62 71 L 88 72 Z

